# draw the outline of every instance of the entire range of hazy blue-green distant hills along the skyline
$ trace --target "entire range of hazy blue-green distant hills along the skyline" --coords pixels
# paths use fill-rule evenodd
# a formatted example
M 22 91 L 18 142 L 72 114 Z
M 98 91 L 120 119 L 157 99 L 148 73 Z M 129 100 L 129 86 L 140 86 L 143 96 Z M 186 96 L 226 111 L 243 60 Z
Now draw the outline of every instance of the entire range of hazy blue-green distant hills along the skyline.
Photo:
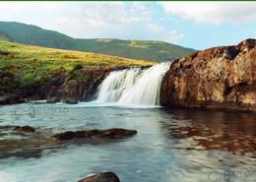
M 194 49 L 163 41 L 73 38 L 57 31 L 43 30 L 36 26 L 15 22 L 0 22 L 1 39 L 44 47 L 91 51 L 156 62 L 173 60 L 195 52 Z

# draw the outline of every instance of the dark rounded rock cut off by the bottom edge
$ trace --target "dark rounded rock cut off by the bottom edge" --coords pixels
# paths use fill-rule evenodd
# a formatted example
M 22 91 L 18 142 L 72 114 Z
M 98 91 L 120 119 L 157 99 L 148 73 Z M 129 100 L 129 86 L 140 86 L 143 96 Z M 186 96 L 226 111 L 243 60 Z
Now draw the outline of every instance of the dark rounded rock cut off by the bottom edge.
M 120 180 L 113 172 L 101 172 L 82 179 L 79 182 L 120 182 Z

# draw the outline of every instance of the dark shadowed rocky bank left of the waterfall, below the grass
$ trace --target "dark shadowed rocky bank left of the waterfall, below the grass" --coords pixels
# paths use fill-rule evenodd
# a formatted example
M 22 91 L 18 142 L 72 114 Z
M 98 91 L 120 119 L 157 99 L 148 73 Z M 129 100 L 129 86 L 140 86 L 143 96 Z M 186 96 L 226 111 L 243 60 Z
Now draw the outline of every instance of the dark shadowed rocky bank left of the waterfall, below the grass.
M 105 76 L 124 68 L 98 68 L 65 71 L 60 69 L 47 78 L 36 78 L 34 86 L 21 87 L 20 79 L 6 72 L 0 74 L 0 105 L 26 100 L 47 99 L 48 103 L 77 103 L 92 99 Z

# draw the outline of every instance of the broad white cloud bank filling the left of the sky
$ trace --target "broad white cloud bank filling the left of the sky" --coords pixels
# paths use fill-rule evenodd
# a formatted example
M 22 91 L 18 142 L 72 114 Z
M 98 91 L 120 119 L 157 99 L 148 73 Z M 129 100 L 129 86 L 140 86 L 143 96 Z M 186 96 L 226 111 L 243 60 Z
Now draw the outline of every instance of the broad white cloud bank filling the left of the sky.
M 176 42 L 183 34 L 154 21 L 141 2 L 0 2 L 0 21 L 16 21 L 74 37 L 155 39 Z

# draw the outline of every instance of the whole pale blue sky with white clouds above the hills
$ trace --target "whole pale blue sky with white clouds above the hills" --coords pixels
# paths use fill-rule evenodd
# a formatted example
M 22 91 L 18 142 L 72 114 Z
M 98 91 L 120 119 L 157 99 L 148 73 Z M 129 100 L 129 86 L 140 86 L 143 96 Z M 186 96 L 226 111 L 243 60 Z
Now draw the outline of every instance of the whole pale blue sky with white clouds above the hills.
M 256 38 L 256 2 L 0 2 L 0 21 L 205 49 Z

